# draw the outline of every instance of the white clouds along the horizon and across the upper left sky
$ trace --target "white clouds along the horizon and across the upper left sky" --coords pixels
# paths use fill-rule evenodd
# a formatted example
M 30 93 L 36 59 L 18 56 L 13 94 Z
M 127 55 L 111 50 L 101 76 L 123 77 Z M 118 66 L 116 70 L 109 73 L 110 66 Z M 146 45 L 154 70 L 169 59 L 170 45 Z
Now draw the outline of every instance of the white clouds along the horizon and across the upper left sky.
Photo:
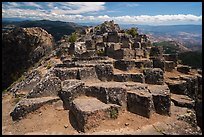
M 29 3 L 29 4 L 28 4 Z M 103 22 L 114 20 L 116 23 L 124 24 L 148 24 L 148 25 L 170 25 L 170 24 L 202 24 L 202 15 L 174 14 L 174 15 L 140 15 L 140 16 L 85 16 L 84 13 L 97 13 L 104 11 L 104 2 L 57 2 L 46 3 L 48 10 L 43 10 L 37 3 L 10 2 L 2 4 L 3 18 L 25 18 L 25 19 L 49 19 L 73 22 Z M 23 9 L 22 5 L 33 6 L 36 9 Z

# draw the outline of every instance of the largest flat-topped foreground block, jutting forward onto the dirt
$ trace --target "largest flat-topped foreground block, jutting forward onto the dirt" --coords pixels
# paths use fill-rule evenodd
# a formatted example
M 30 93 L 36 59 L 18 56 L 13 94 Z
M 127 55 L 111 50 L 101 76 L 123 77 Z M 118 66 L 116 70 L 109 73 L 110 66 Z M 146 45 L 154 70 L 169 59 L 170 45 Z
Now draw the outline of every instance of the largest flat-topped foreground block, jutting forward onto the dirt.
M 117 105 L 105 104 L 93 97 L 80 97 L 73 100 L 72 109 L 78 129 L 86 132 L 100 125 L 105 119 L 117 118 Z

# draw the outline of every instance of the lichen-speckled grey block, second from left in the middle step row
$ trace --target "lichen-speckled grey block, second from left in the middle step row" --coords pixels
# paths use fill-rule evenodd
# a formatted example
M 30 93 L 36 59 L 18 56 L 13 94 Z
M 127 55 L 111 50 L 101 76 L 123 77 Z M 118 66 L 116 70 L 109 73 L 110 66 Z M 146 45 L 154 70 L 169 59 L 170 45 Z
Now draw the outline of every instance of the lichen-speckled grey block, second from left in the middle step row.
M 80 80 L 94 80 L 97 79 L 95 67 L 83 67 L 79 69 Z

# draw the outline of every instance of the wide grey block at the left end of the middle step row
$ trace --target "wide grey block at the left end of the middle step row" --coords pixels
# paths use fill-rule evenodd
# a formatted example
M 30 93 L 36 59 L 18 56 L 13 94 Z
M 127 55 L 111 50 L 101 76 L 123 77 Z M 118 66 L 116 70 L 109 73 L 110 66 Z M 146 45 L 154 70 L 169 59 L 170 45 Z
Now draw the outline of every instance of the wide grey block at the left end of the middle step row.
M 78 68 L 55 68 L 54 73 L 62 81 L 67 79 L 77 79 Z

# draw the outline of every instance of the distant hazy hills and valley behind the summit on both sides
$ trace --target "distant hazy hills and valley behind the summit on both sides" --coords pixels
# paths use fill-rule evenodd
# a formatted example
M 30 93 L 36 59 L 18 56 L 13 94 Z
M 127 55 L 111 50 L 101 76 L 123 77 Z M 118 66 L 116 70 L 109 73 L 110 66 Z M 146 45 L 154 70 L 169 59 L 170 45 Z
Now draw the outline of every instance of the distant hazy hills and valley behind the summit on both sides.
M 87 26 L 97 26 L 100 23 L 73 23 L 50 20 L 17 20 L 2 19 L 2 28 L 10 27 L 41 27 L 52 34 L 56 41 L 63 35 L 70 35 L 76 29 Z M 150 37 L 152 42 L 177 41 L 190 48 L 191 50 L 202 49 L 202 25 L 135 25 L 119 24 L 122 29 L 138 27 L 140 33 Z

